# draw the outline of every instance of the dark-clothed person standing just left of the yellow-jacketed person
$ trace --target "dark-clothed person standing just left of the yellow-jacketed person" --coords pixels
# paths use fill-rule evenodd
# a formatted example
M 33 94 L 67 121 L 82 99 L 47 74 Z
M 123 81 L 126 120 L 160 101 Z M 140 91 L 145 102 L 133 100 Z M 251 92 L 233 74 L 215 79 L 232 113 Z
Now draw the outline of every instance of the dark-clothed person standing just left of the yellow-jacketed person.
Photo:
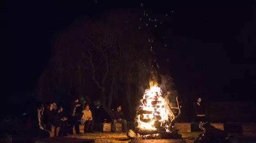
M 70 117 L 70 122 L 71 122 L 71 135 L 73 134 L 73 127 L 75 126 L 75 133 L 76 134 L 82 134 L 79 131 L 79 118 L 77 116 L 78 113 L 76 113 L 76 108 L 80 106 L 78 104 L 78 98 L 75 98 L 75 100 L 71 103 L 71 117 Z

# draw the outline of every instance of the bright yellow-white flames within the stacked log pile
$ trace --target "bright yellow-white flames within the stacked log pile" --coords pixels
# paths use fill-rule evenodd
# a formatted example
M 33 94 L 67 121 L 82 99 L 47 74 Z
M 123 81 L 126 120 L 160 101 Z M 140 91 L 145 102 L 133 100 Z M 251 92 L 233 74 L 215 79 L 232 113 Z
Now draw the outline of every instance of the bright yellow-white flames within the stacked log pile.
M 153 101 L 153 102 L 152 102 Z M 152 105 L 154 103 L 154 105 Z M 145 90 L 143 99 L 141 100 L 140 110 L 150 111 L 152 113 L 137 114 L 137 122 L 140 123 L 142 129 L 155 129 L 155 121 L 168 120 L 167 110 L 165 109 L 165 101 L 162 97 L 162 90 L 157 82 L 150 80 L 150 88 Z M 160 118 L 159 118 L 160 116 Z M 144 120 L 144 121 L 142 121 Z M 145 120 L 147 122 L 145 122 Z M 168 126 L 166 126 L 167 129 Z

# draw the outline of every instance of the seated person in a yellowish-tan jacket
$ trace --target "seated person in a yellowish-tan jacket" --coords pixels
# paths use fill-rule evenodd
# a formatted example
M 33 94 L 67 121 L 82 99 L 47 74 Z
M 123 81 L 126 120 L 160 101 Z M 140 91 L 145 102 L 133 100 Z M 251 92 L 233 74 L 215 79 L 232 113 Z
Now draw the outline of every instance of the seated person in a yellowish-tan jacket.
M 89 105 L 85 106 L 83 113 L 80 122 L 84 124 L 84 133 L 93 133 L 93 116 L 91 110 L 89 110 Z

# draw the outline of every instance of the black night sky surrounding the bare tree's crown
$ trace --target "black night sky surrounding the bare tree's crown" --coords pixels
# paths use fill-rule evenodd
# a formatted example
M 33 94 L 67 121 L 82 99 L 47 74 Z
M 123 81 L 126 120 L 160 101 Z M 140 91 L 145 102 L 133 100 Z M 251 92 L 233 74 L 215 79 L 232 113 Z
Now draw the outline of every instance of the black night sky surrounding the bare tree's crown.
M 54 38 L 74 21 L 126 8 L 141 10 L 145 24 L 157 25 L 154 34 L 163 42 L 163 46 L 154 48 L 159 71 L 170 70 L 182 97 L 202 96 L 215 101 L 256 99 L 255 1 L 1 3 L 1 49 L 6 50 L 2 60 L 5 68 L 1 68 L 5 85 L 2 95 L 34 92 L 52 55 Z M 143 15 L 144 11 L 148 16 Z M 149 18 L 157 21 L 147 21 Z

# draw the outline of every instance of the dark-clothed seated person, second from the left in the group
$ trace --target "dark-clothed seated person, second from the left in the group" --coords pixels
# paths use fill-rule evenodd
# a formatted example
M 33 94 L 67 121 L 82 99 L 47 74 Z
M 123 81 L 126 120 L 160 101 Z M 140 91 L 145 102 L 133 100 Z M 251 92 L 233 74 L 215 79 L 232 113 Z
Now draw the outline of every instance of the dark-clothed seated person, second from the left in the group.
M 44 115 L 44 123 L 46 124 L 47 130 L 52 131 L 52 127 L 60 127 L 59 136 L 63 133 L 66 136 L 67 131 L 67 118 L 60 118 L 58 114 L 53 110 L 53 104 L 49 105 L 49 110 Z

